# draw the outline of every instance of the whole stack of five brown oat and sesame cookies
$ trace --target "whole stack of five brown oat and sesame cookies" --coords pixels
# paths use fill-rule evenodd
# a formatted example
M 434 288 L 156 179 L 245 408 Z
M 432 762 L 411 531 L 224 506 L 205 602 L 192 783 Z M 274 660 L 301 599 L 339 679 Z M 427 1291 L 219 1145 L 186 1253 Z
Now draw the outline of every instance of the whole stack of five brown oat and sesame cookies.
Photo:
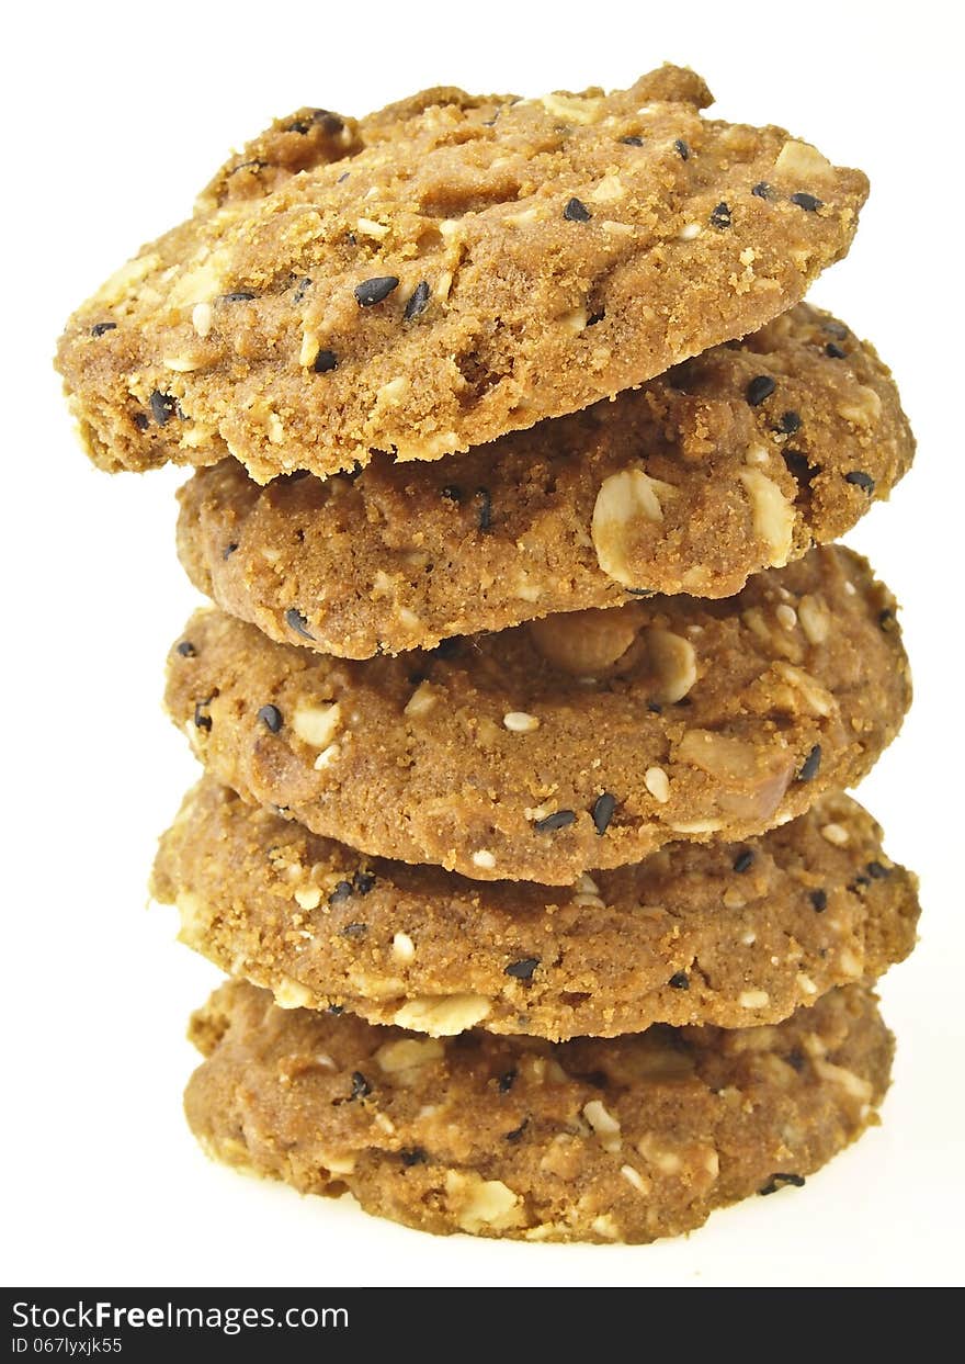
M 709 102 L 301 110 L 68 326 L 91 458 L 198 466 L 204 775 L 153 885 L 232 977 L 191 1027 L 218 1159 L 647 1241 L 875 1121 L 917 900 L 842 792 L 909 675 L 830 542 L 913 441 L 801 303 L 864 176 Z

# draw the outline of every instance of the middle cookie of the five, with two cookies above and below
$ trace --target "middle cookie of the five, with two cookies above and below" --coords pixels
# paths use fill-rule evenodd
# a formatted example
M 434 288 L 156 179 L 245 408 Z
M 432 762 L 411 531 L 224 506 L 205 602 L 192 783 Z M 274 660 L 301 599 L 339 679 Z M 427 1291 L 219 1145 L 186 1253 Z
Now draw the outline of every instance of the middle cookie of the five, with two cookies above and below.
M 909 697 L 894 599 L 840 547 L 722 602 L 652 597 L 395 659 L 331 659 L 209 608 L 166 692 L 247 801 L 365 853 L 551 885 L 801 814 L 868 771 Z

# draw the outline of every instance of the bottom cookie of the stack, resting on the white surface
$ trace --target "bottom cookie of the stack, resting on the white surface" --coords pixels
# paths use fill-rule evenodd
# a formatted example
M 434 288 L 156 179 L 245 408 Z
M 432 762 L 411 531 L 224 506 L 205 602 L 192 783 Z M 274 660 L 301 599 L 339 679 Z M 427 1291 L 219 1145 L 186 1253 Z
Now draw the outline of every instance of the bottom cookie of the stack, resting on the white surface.
M 876 1121 L 893 1039 L 831 990 L 773 1027 L 427 1038 L 230 981 L 191 1022 L 214 1158 L 427 1232 L 653 1241 L 800 1184 Z

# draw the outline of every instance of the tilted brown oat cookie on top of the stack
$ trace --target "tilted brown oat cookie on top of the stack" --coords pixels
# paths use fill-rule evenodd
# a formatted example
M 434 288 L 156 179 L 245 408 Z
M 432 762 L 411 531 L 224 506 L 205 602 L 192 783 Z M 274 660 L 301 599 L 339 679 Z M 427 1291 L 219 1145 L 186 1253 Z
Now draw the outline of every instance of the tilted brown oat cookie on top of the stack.
M 303 110 L 71 318 L 91 458 L 233 454 L 262 483 L 433 460 L 754 331 L 846 252 L 867 180 L 709 102 L 664 67 L 609 95 Z

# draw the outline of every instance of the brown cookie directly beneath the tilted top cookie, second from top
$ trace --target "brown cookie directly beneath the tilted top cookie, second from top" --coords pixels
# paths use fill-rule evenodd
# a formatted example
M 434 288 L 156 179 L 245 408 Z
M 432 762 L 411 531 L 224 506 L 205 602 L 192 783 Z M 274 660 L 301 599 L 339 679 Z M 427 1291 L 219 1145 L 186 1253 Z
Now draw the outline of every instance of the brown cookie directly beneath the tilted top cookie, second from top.
M 180 492 L 192 582 L 273 640 L 364 659 L 626 589 L 721 597 L 848 531 L 915 442 L 889 371 L 807 304 L 645 387 L 416 468 Z

